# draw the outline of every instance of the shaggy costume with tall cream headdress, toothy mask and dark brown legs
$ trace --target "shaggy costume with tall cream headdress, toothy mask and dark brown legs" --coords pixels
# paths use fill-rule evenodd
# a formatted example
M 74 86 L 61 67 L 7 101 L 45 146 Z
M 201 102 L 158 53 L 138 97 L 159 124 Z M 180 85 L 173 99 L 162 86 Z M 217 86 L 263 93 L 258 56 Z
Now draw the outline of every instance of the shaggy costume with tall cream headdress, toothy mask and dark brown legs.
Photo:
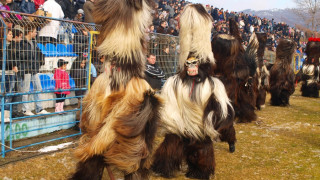
M 233 127 L 234 111 L 223 83 L 213 77 L 210 15 L 201 4 L 188 5 L 180 25 L 181 71 L 166 81 L 161 92 L 165 138 L 156 150 L 152 169 L 172 178 L 186 159 L 187 177 L 209 179 L 215 170 L 213 141 L 218 132 Z M 191 75 L 191 68 L 197 73 Z

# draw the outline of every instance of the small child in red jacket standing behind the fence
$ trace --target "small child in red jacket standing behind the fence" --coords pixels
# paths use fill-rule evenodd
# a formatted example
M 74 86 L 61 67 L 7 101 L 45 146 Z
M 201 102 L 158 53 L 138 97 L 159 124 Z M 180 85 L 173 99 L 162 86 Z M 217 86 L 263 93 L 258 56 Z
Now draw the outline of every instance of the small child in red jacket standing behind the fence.
M 69 83 L 69 74 L 66 71 L 67 68 L 67 61 L 63 59 L 58 60 L 58 68 L 54 71 L 54 79 L 56 80 L 56 87 L 55 90 L 62 90 L 62 89 L 70 89 Z M 57 98 L 65 98 L 70 91 L 59 91 L 55 92 Z M 55 112 L 61 112 L 63 110 L 65 99 L 57 99 L 56 100 L 56 109 Z

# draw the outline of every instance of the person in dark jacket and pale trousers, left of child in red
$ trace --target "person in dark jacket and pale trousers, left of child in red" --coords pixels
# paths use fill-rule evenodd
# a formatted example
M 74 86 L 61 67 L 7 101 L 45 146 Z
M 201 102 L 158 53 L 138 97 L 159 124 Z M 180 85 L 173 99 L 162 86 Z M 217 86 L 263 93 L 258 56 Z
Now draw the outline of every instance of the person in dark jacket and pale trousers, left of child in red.
M 23 79 L 23 92 L 28 93 L 30 91 L 30 82 L 33 85 L 34 91 L 42 91 L 41 82 L 39 78 L 40 66 L 44 64 L 44 55 L 41 53 L 40 49 L 37 47 L 35 38 L 37 36 L 36 27 L 25 27 L 25 39 L 21 41 L 20 48 L 20 71 L 22 72 Z M 41 102 L 38 102 L 39 95 L 37 93 L 33 94 L 34 100 L 36 101 L 36 113 L 46 114 L 46 110 L 42 108 Z M 26 102 L 29 100 L 29 94 L 22 96 L 22 101 Z M 22 104 L 22 110 L 25 115 L 34 115 L 29 107 L 29 103 Z

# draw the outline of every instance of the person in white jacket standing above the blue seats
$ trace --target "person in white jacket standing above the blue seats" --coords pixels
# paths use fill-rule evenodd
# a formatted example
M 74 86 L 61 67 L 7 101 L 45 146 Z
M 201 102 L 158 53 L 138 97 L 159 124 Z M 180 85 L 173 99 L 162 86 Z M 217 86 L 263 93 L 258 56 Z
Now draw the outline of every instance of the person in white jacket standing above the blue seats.
M 55 0 L 47 0 L 43 4 L 44 11 L 51 13 L 53 18 L 62 19 L 64 17 L 61 6 Z M 51 20 L 39 32 L 40 42 L 44 45 L 46 43 L 57 43 L 60 21 Z

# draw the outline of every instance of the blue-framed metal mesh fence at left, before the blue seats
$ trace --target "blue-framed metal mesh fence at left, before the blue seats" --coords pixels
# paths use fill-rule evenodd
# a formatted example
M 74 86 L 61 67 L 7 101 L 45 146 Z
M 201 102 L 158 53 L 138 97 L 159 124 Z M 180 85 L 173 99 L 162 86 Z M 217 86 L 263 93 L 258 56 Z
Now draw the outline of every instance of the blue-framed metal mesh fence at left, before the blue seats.
M 89 55 L 95 24 L 0 11 L 1 151 L 60 140 L 19 143 L 57 130 L 69 129 L 81 117 L 88 89 Z

